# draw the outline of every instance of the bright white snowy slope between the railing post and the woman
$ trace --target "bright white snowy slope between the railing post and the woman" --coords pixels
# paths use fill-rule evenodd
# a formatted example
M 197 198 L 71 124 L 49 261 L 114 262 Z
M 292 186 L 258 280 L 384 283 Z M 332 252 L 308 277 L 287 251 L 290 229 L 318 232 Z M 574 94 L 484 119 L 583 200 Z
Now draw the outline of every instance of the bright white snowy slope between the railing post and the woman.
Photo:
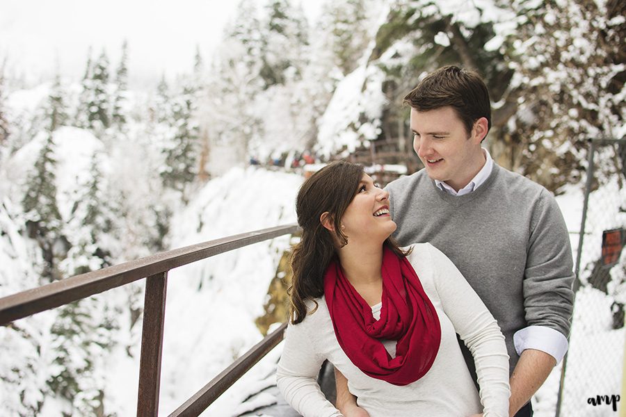
M 233 168 L 209 181 L 172 220 L 171 247 L 295 222 L 302 181 L 296 174 Z M 269 283 L 287 247 L 289 236 L 283 236 L 170 272 L 162 413 L 176 409 L 262 338 L 254 320 L 263 314 Z M 234 403 L 226 409 L 241 401 L 230 395 Z M 220 412 L 211 407 L 209 415 L 225 415 Z

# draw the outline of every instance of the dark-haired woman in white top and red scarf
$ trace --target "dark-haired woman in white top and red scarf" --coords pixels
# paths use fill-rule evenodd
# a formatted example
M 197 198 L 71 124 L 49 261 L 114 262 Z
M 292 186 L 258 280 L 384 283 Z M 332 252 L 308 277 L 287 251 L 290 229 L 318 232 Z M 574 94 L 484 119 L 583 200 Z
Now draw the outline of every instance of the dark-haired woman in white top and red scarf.
M 397 247 L 388 197 L 346 162 L 300 188 L 282 395 L 305 417 L 342 416 L 316 382 L 328 359 L 371 417 L 508 416 L 508 355 L 496 320 L 435 247 Z M 474 355 L 480 395 L 456 333 Z

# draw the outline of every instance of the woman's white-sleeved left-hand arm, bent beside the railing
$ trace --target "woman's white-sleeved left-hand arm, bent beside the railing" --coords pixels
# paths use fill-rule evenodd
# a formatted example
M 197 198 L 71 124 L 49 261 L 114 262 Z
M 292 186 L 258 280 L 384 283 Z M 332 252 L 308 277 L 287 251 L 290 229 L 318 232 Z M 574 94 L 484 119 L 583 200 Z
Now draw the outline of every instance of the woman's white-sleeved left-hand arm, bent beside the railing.
M 278 389 L 304 417 L 342 417 L 319 389 L 317 376 L 324 358 L 314 351 L 305 326 L 301 322 L 287 327 L 276 371 Z

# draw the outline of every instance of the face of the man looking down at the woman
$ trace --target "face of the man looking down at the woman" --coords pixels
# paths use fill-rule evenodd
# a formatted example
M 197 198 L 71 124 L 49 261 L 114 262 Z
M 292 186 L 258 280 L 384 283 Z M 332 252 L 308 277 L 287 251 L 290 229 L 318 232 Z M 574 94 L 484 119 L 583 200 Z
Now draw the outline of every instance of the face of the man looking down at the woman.
M 472 181 L 485 162 L 481 140 L 486 131 L 477 126 L 481 123 L 474 123 L 468 133 L 450 106 L 430 111 L 411 109 L 413 149 L 428 177 L 444 181 L 457 191 Z

